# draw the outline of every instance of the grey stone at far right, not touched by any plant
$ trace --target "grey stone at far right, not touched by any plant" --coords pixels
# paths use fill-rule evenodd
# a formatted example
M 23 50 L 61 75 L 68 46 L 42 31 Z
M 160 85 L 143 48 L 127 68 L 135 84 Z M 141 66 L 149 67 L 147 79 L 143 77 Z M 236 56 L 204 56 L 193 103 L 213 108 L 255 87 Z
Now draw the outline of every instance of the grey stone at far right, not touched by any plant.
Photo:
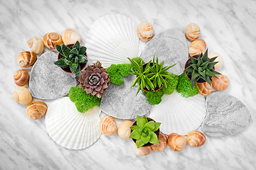
M 206 119 L 202 130 L 209 136 L 235 135 L 249 125 L 251 115 L 233 96 L 215 91 L 206 97 Z

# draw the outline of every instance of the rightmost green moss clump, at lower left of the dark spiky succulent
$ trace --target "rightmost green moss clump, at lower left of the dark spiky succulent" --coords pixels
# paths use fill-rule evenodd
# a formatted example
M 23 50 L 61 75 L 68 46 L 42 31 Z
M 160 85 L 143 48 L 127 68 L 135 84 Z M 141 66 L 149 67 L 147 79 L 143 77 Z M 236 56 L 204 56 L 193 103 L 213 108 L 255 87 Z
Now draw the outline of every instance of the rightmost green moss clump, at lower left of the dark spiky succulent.
M 183 73 L 178 77 L 178 85 L 176 86 L 176 90 L 180 93 L 183 97 L 191 97 L 198 94 L 199 88 L 196 84 L 191 89 L 191 80 L 186 77 L 186 74 Z

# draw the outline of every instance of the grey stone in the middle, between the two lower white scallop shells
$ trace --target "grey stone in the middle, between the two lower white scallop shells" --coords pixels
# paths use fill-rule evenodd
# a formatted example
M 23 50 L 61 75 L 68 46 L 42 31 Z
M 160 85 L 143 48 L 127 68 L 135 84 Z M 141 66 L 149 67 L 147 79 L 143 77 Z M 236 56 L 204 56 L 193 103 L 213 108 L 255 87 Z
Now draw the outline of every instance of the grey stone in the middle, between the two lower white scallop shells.
M 137 94 L 137 86 L 130 88 L 136 77 L 132 74 L 123 77 L 121 86 L 110 84 L 102 95 L 100 108 L 107 115 L 120 119 L 134 119 L 137 115 L 146 115 L 151 110 L 151 104 L 140 91 Z

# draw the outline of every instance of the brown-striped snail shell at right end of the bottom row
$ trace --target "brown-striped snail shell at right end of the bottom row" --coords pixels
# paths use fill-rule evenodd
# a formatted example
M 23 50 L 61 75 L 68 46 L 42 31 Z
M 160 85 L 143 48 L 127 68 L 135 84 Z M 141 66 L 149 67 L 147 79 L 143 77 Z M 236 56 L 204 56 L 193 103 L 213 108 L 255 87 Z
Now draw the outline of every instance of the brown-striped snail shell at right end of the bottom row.
M 201 147 L 206 142 L 206 136 L 202 132 L 193 130 L 188 133 L 186 140 L 191 147 Z

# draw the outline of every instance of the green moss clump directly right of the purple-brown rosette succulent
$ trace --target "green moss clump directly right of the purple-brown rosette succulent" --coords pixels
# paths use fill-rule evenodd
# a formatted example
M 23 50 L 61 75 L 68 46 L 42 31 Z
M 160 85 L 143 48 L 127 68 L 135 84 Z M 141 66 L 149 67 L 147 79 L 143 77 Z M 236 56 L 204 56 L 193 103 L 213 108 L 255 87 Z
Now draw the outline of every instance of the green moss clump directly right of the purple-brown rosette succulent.
M 129 76 L 131 69 L 132 66 L 130 64 L 112 64 L 107 68 L 107 72 L 110 75 L 110 82 L 120 86 L 124 82 L 122 76 Z

